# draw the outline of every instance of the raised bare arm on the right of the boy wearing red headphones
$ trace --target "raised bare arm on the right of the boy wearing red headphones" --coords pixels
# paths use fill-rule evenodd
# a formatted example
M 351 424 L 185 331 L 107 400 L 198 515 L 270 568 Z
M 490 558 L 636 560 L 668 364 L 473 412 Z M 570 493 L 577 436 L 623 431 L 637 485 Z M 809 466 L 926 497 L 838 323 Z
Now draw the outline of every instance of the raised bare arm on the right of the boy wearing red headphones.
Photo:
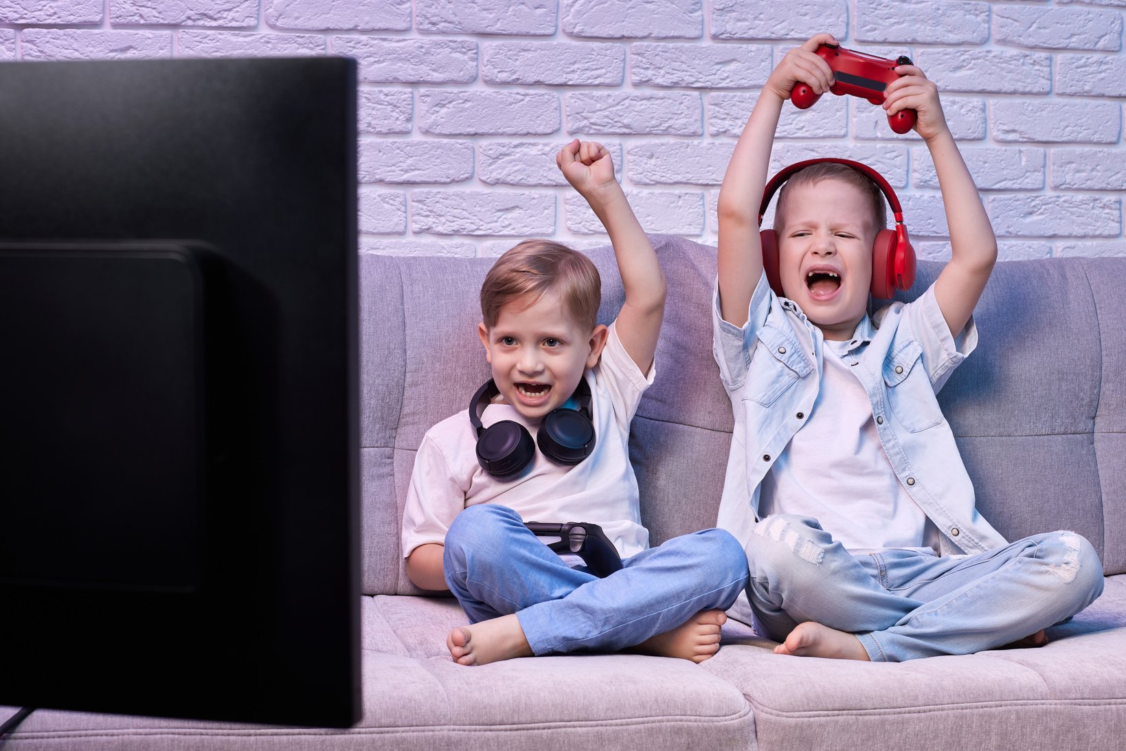
M 887 86 L 884 108 L 890 115 L 904 108 L 919 114 L 915 131 L 935 162 L 950 231 L 950 260 L 935 280 L 935 299 L 950 333 L 957 336 L 969 321 L 997 262 L 997 238 L 977 186 L 946 125 L 938 87 L 915 65 L 900 65 L 895 71 L 902 78 Z

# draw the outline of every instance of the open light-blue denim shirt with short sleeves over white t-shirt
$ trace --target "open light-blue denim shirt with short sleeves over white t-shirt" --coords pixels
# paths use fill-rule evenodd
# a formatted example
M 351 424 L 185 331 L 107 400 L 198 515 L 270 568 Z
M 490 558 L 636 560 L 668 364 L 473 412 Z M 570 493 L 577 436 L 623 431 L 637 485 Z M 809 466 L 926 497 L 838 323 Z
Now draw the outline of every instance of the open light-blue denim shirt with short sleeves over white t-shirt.
M 766 275 L 748 313 L 741 329 L 724 321 L 716 286 L 713 354 L 735 418 L 717 526 L 743 540 L 758 522 L 762 477 L 813 409 L 824 351 L 821 329 L 794 302 L 775 295 Z M 852 337 L 841 359 L 868 394 L 895 476 L 938 527 L 939 553 L 1004 545 L 977 513 L 973 483 L 936 396 L 977 346 L 973 319 L 951 337 L 931 286 L 912 303 L 866 315 Z

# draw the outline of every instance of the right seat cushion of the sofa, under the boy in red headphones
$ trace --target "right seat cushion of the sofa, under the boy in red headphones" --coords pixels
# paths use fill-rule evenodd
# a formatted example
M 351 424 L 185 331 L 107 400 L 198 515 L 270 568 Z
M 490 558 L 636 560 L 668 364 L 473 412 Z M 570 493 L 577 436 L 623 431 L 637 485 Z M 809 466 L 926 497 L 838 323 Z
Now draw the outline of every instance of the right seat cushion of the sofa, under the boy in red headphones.
M 735 638 L 701 667 L 742 689 L 760 749 L 1120 748 L 1126 576 L 1106 584 L 1042 649 L 872 663 Z

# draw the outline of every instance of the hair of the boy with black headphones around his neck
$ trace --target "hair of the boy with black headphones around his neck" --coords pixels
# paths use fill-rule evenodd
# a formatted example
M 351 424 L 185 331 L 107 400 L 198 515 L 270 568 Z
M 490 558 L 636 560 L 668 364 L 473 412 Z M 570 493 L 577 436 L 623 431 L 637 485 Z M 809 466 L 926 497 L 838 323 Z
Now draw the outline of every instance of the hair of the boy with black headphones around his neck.
M 500 310 L 515 299 L 534 304 L 558 292 L 563 304 L 591 329 L 602 299 L 602 281 L 589 258 L 553 240 L 525 240 L 497 259 L 481 285 L 481 316 L 497 325 Z

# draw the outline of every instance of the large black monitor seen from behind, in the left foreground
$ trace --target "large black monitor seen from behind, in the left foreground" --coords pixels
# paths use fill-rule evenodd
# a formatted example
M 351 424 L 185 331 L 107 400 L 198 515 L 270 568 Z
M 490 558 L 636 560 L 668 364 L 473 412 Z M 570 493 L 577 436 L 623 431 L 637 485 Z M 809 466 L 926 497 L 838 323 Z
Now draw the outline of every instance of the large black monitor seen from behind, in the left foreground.
M 358 719 L 355 91 L 0 64 L 0 705 Z

